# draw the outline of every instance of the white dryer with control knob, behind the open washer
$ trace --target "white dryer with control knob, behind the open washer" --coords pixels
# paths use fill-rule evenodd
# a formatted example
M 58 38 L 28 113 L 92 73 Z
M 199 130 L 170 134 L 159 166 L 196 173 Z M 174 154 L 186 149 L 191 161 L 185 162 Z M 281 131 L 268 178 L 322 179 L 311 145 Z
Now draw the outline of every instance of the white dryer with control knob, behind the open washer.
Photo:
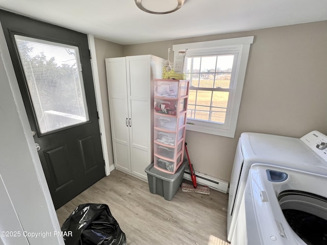
M 227 206 L 227 239 L 236 226 L 246 180 L 252 164 L 263 163 L 327 175 L 327 136 L 312 131 L 301 138 L 242 133 L 233 164 Z

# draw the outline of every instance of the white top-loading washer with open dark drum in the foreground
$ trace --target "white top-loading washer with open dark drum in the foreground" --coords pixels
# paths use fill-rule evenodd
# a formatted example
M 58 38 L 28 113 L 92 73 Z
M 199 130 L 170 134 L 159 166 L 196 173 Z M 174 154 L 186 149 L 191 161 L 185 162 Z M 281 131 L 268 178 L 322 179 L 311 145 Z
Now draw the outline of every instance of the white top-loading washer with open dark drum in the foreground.
M 327 244 L 327 176 L 253 164 L 231 245 Z

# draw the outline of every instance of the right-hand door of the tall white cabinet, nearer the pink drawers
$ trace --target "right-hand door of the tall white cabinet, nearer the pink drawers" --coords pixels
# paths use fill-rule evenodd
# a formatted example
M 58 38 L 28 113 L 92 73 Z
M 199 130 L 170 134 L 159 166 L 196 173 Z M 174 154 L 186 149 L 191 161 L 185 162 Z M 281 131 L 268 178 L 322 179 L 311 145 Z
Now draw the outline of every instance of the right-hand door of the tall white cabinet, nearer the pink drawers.
M 131 115 L 131 173 L 147 179 L 151 163 L 151 74 L 150 56 L 127 57 L 128 107 Z

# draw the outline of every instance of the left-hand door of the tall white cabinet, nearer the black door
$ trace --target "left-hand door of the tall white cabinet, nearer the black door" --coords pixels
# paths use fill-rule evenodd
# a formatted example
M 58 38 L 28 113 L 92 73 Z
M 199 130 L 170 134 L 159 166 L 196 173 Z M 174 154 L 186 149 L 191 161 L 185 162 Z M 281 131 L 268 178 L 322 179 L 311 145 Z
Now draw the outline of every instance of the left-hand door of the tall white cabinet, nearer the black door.
M 106 59 L 111 137 L 116 168 L 131 171 L 126 58 Z

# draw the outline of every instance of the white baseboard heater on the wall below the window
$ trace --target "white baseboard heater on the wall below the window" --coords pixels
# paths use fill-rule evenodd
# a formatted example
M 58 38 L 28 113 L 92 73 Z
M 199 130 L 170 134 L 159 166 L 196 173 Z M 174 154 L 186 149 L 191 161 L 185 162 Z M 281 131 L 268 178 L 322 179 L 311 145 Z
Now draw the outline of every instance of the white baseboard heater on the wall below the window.
M 209 188 L 214 190 L 221 191 L 223 193 L 227 193 L 228 190 L 228 182 L 224 180 L 220 180 L 218 178 L 208 176 L 202 173 L 195 171 L 196 182 L 200 185 L 206 185 Z M 191 180 L 191 174 L 189 168 L 185 168 L 184 170 L 184 179 Z

